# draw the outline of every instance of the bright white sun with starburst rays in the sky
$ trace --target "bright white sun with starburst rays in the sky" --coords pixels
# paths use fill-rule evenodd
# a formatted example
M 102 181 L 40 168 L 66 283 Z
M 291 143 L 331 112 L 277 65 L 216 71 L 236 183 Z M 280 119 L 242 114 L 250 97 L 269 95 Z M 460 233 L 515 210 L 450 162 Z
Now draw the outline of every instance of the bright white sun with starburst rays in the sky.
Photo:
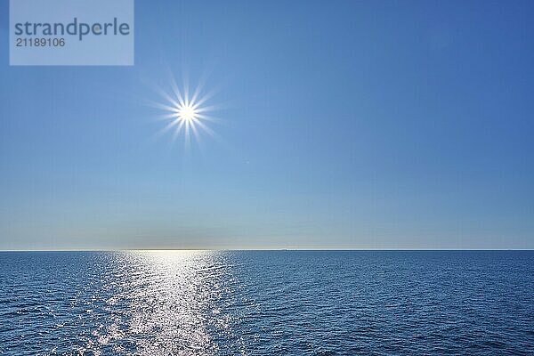
M 206 105 L 214 95 L 214 92 L 203 93 L 203 85 L 198 85 L 191 94 L 188 85 L 184 84 L 182 88 L 179 88 L 172 76 L 170 78 L 170 86 L 171 92 L 156 88 L 165 103 L 149 102 L 150 106 L 165 111 L 163 115 L 159 116 L 159 118 L 166 121 L 166 126 L 161 130 L 160 134 L 174 131 L 173 142 L 181 137 L 186 149 L 190 146 L 191 136 L 198 143 L 200 143 L 201 133 L 215 137 L 214 131 L 208 124 L 218 121 L 218 119 L 208 115 L 208 113 L 217 109 L 217 107 Z

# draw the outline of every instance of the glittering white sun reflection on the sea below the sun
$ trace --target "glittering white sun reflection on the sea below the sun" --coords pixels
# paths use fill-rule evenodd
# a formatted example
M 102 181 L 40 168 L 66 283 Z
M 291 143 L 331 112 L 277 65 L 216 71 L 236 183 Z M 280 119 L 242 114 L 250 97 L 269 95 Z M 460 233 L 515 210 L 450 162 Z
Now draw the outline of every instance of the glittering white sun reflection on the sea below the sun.
M 134 251 L 117 260 L 106 286 L 114 289 L 106 309 L 115 321 L 93 331 L 99 344 L 120 340 L 114 352 L 136 355 L 217 353 L 215 338 L 231 334 L 231 317 L 218 305 L 228 280 L 219 253 Z

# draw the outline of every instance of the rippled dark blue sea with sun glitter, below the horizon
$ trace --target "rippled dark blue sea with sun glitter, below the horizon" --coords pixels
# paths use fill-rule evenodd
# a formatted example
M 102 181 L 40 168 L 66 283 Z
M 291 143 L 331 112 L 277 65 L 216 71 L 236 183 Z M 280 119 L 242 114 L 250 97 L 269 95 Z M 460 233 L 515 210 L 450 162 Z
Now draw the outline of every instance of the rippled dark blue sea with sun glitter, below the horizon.
M 2 355 L 534 354 L 534 251 L 0 253 Z

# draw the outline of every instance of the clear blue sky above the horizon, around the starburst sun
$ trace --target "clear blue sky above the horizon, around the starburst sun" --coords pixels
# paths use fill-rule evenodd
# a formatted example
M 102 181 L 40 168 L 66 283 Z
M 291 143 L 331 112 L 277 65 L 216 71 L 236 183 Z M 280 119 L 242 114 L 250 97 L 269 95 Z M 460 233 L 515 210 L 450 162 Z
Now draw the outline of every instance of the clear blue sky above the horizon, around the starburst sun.
M 0 249 L 534 248 L 532 1 L 137 1 L 134 67 L 10 67 L 7 3 Z

